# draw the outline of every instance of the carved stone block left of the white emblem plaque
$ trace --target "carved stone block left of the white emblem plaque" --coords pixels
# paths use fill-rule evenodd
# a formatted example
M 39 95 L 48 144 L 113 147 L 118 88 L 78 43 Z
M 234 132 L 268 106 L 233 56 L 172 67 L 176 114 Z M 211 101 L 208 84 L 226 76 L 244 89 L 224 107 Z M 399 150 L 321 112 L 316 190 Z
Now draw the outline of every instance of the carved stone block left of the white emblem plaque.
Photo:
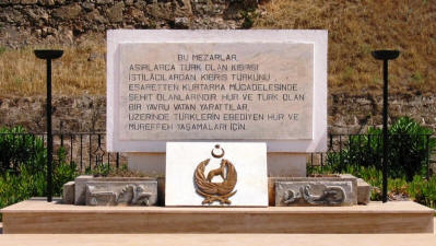
M 86 183 L 86 206 L 154 206 L 156 203 L 156 179 Z

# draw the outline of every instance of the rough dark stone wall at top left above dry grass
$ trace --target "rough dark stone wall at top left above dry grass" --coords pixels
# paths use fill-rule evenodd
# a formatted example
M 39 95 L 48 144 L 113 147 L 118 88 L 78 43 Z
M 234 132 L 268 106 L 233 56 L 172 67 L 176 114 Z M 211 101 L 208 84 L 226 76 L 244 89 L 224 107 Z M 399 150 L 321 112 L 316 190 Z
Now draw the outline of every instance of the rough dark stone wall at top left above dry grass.
M 73 42 L 110 28 L 239 28 L 258 0 L 0 0 L 0 44 Z

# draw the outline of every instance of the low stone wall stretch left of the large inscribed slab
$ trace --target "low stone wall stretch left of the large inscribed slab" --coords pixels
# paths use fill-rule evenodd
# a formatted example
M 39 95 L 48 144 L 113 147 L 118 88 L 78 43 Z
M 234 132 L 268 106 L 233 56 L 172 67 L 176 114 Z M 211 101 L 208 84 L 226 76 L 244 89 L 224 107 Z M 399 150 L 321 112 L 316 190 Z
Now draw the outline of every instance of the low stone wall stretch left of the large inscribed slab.
M 0 126 L 23 126 L 28 131 L 46 131 L 45 97 L 0 98 Z M 104 132 L 106 97 L 55 97 L 52 101 L 54 132 Z M 62 129 L 61 129 L 62 128 Z

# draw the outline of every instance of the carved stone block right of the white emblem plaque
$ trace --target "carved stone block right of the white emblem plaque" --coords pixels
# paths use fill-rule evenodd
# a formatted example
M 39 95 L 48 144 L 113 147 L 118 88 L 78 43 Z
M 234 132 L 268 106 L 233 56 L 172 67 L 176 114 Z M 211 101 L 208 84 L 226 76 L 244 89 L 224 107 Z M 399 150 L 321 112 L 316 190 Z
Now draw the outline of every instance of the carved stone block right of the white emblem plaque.
M 352 180 L 307 179 L 276 181 L 275 206 L 353 206 L 357 203 L 356 187 Z

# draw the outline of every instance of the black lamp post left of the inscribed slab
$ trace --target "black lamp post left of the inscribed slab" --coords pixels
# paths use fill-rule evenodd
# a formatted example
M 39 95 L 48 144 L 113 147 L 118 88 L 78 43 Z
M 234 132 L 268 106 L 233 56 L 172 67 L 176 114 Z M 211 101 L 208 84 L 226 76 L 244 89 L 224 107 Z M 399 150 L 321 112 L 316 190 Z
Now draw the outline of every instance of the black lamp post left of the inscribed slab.
M 52 199 L 52 130 L 51 130 L 51 60 L 62 56 L 63 50 L 39 49 L 34 50 L 39 59 L 47 60 L 47 201 Z

